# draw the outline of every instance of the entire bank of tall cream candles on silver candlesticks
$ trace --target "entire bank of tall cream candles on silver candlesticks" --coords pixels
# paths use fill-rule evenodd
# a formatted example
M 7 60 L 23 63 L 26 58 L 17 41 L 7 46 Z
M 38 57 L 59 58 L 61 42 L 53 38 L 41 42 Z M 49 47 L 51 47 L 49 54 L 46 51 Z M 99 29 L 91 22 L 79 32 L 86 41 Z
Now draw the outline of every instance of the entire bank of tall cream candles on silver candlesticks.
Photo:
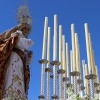
M 90 96 L 89 100 L 93 99 L 95 93 L 99 93 L 98 69 L 95 65 L 94 51 L 92 49 L 92 42 L 90 33 L 88 31 L 88 24 L 85 23 L 84 27 L 88 63 L 85 64 L 85 60 L 82 60 L 81 68 L 78 34 L 75 33 L 74 24 L 71 24 L 72 50 L 70 50 L 69 60 L 68 43 L 65 42 L 65 35 L 62 34 L 62 25 L 59 25 L 58 32 L 58 18 L 57 15 L 54 15 L 53 60 L 50 61 L 51 28 L 48 27 L 48 17 L 45 17 L 42 59 L 39 60 L 39 63 L 42 64 L 41 88 L 40 95 L 38 96 L 40 100 L 50 100 L 50 98 L 52 100 L 70 100 L 68 99 L 69 97 L 67 94 L 67 90 L 70 86 L 72 86 L 73 93 L 75 95 L 79 94 L 81 91 L 81 96 L 83 96 L 83 93 Z M 57 38 L 58 36 L 59 39 Z M 57 45 L 58 43 L 59 47 Z M 50 67 L 50 65 L 53 67 L 53 69 Z M 83 79 L 81 70 L 83 70 Z M 50 72 L 52 72 L 53 75 L 51 75 Z M 52 95 L 50 95 L 50 77 L 53 79 Z M 84 83 L 83 86 L 82 83 Z M 45 84 L 46 95 L 44 94 Z

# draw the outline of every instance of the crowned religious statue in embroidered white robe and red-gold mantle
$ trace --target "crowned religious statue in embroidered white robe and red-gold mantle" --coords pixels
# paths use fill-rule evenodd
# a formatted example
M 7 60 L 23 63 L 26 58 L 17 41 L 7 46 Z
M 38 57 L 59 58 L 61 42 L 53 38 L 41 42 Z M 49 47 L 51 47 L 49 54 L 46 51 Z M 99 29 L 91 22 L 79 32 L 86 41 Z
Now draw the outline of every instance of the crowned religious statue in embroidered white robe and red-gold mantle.
M 0 34 L 0 100 L 26 100 L 33 41 L 28 39 L 32 18 L 27 5 L 18 9 L 19 25 Z

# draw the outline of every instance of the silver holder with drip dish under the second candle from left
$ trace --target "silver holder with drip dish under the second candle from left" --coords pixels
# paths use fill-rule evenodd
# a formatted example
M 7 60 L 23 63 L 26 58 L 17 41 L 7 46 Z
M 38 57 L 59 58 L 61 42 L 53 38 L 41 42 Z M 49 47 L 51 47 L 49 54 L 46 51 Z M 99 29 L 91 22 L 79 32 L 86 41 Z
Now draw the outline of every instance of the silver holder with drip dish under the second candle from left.
M 50 100 L 50 72 L 52 72 L 52 69 L 45 68 L 45 72 L 47 73 L 46 100 Z

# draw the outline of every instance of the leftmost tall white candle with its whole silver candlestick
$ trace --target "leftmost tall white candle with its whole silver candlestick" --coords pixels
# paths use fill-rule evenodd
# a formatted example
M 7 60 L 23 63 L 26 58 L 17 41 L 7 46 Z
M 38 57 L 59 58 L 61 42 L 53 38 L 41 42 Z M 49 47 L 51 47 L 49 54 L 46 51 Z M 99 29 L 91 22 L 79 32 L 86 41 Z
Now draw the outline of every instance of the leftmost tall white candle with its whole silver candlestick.
M 47 39 L 47 31 L 48 31 L 48 17 L 45 17 L 44 22 L 44 37 L 43 37 L 43 49 L 42 49 L 42 59 L 39 60 L 39 63 L 42 64 L 41 68 L 41 89 L 39 99 L 44 100 L 44 77 L 45 77 L 45 64 L 48 63 L 46 60 L 46 39 Z

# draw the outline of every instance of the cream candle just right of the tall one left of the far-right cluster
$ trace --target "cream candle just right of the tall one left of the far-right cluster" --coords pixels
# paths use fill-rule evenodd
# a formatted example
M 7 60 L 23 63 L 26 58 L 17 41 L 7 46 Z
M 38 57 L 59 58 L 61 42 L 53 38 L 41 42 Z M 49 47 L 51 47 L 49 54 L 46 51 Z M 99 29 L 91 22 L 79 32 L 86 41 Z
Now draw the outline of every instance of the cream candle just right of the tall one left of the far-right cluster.
M 79 59 L 78 59 L 78 36 L 77 33 L 75 33 L 75 55 L 76 55 L 76 69 L 79 72 Z

